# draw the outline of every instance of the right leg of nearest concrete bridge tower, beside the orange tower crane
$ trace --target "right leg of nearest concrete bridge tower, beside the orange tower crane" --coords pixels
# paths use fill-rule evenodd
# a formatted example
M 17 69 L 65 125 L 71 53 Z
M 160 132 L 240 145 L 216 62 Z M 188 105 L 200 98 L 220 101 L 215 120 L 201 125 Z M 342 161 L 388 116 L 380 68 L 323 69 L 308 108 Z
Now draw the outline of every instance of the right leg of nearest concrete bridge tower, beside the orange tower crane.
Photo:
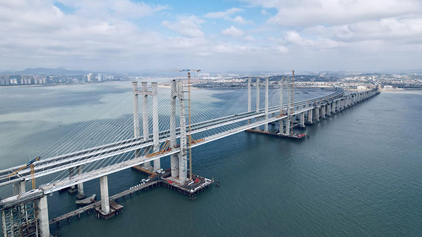
M 180 152 L 179 156 L 179 181 L 183 184 L 187 180 L 187 166 L 188 158 L 186 154 L 187 143 L 186 143 L 186 118 L 185 118 L 185 102 L 183 97 L 183 82 L 178 81 L 177 85 L 177 96 L 179 97 L 179 108 L 180 108 Z

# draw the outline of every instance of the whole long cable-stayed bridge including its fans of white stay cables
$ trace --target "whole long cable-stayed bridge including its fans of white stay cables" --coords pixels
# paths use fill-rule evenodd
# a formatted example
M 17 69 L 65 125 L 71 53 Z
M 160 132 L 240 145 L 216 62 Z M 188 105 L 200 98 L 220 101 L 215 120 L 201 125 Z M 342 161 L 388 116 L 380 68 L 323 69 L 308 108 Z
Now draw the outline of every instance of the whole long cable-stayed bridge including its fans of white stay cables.
M 49 236 L 46 195 L 54 191 L 75 189 L 77 184 L 78 195 L 84 196 L 83 182 L 100 178 L 101 210 L 107 213 L 109 174 L 139 165 L 156 171 L 161 168 L 160 159 L 170 156 L 169 179 L 187 183 L 191 181 L 187 155 L 190 148 L 262 125 L 264 131 L 269 131 L 268 124 L 277 121 L 280 133 L 290 134 L 296 118 L 299 127 L 305 122 L 314 123 L 379 93 L 376 85 L 375 89 L 356 93 L 331 88 L 315 97 L 294 93 L 287 78 L 277 85 L 270 92 L 269 78 L 263 83 L 257 78 L 253 90 L 249 78 L 248 90 L 234 93 L 222 107 L 192 93 L 188 108 L 181 80 L 173 80 L 160 93 L 157 83 L 148 88 L 142 82 L 139 88 L 138 82 L 133 82 L 131 91 L 38 154 L 40 160 L 33 163 L 32 174 L 30 167 L 16 172 L 21 166 L 0 171 L 0 186 L 12 184 L 15 194 L 0 202 L 4 236 L 19 236 L 19 230 L 28 227 L 29 219 L 36 234 Z M 264 100 L 260 100 L 261 90 Z M 53 178 L 25 192 L 26 181 L 44 176 Z M 33 210 L 33 218 L 28 219 L 23 209 Z

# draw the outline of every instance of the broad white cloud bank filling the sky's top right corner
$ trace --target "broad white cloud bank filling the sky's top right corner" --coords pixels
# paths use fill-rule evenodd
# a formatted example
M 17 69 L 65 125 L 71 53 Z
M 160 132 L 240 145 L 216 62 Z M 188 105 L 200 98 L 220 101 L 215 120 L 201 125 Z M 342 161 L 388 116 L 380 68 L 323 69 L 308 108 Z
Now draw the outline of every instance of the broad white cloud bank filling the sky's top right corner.
M 255 5 L 276 8 L 271 23 L 282 26 L 339 25 L 405 14 L 420 14 L 420 0 L 248 0 Z

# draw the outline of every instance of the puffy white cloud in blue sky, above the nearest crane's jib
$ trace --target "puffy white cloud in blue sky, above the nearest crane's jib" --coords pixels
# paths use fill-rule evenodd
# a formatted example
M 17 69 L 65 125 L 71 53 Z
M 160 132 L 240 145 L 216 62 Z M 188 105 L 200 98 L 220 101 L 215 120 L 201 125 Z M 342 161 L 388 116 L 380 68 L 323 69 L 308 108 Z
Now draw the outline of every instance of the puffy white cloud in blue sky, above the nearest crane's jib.
M 204 22 L 205 20 L 191 15 L 189 17 L 180 17 L 179 21 L 174 23 L 171 23 L 168 20 L 162 21 L 161 25 L 171 30 L 175 30 L 185 36 L 204 37 L 204 32 L 199 29 L 199 25 Z

